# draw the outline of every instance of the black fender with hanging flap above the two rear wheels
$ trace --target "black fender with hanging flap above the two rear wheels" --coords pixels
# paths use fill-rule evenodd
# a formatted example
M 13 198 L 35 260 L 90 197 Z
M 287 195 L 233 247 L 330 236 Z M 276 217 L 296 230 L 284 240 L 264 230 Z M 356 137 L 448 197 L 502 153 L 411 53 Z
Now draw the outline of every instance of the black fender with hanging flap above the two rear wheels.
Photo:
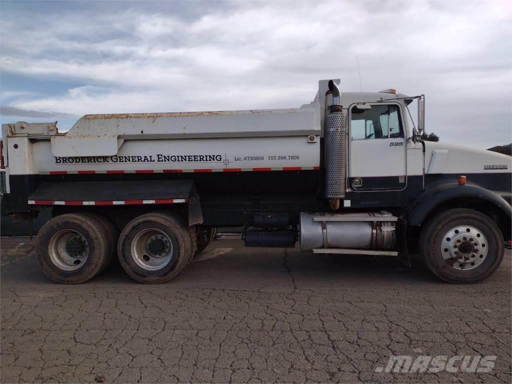
M 193 180 L 77 181 L 42 183 L 29 200 L 95 202 L 186 199 L 188 224 L 201 224 L 203 214 Z M 78 204 L 79 205 L 79 204 Z

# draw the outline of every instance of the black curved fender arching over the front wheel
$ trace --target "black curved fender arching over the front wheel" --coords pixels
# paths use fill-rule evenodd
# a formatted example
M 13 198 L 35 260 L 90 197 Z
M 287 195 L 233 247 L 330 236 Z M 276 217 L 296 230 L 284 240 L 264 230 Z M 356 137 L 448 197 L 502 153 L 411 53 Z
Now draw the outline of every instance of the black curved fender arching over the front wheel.
M 409 208 L 408 225 L 421 225 L 429 213 L 439 204 L 452 199 L 474 198 L 494 204 L 508 218 L 512 218 L 512 207 L 500 195 L 478 185 L 443 183 L 425 190 Z

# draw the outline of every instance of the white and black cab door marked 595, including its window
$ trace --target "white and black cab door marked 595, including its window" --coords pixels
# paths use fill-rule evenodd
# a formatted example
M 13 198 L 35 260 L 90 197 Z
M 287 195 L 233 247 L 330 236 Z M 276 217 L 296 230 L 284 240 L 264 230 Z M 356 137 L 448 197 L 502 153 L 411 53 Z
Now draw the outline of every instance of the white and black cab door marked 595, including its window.
M 407 185 L 406 135 L 398 103 L 355 104 L 349 111 L 349 180 L 354 191 Z

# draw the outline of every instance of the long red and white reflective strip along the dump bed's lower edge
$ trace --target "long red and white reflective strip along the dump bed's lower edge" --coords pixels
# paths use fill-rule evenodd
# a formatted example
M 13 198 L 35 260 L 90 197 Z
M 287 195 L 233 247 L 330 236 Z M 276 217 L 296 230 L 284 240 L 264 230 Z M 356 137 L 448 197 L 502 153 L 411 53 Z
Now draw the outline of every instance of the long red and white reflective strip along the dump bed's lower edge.
M 256 168 L 194 168 L 194 169 L 111 169 L 111 170 L 50 170 L 40 172 L 40 175 L 95 175 L 95 174 L 181 174 L 209 172 L 269 172 L 272 170 L 318 170 L 313 167 L 256 167 Z

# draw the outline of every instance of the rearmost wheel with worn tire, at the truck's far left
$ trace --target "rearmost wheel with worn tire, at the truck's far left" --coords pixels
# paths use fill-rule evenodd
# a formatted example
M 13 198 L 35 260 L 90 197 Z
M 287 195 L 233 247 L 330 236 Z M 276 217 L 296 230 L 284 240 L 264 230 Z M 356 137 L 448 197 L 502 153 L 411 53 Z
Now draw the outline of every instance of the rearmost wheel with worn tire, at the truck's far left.
M 62 284 L 80 284 L 108 265 L 112 245 L 100 221 L 86 214 L 65 214 L 49 220 L 36 239 L 42 272 Z

